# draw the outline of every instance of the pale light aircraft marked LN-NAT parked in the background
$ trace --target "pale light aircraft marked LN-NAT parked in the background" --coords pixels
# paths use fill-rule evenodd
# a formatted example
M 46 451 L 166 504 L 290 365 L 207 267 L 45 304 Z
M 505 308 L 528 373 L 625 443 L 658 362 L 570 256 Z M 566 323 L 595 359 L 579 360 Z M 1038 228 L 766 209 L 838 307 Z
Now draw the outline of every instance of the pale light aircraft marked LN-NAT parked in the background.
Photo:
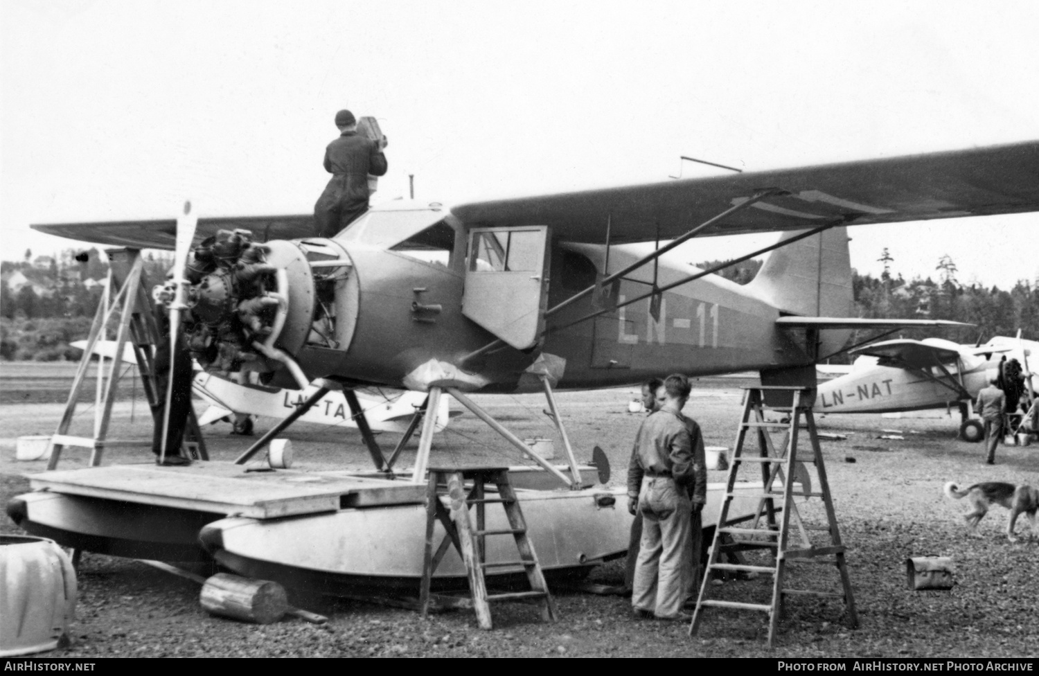
M 1039 376 L 1029 371 L 1029 357 L 1039 343 L 995 336 L 985 345 L 958 345 L 941 339 L 883 341 L 852 350 L 859 356 L 847 375 L 819 384 L 816 411 L 821 413 L 886 413 L 956 406 L 960 436 L 980 441 L 981 422 L 971 415 L 971 401 L 1001 375 L 1001 364 L 1016 359 L 1027 386 L 1022 401 L 1039 390 Z

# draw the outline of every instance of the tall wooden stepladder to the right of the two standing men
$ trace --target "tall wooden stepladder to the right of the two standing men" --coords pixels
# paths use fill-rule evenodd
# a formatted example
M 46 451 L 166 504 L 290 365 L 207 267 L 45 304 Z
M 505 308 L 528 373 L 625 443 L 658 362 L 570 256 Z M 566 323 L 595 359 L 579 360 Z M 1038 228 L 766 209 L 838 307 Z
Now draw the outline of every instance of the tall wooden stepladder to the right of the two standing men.
M 826 467 L 819 447 L 816 421 L 811 414 L 814 390 L 803 387 L 748 387 L 746 388 L 743 417 L 736 437 L 728 470 L 725 498 L 718 515 L 711 557 L 700 586 L 696 611 L 689 627 L 690 636 L 695 634 L 707 607 L 763 611 L 769 614 L 769 648 L 775 639 L 776 628 L 782 612 L 783 598 L 795 595 L 812 595 L 840 598 L 845 602 L 848 624 L 858 626 L 855 599 L 852 595 L 851 579 L 845 561 L 846 547 L 841 541 L 836 513 L 830 497 Z M 768 399 L 768 402 L 766 401 Z M 775 404 L 775 405 L 773 405 Z M 775 423 L 766 420 L 765 411 L 772 410 L 788 422 Z M 797 454 L 798 432 L 802 418 L 807 427 L 811 444 L 811 457 L 801 460 Z M 772 442 L 770 430 L 785 432 L 782 442 L 776 447 Z M 744 444 L 747 433 L 756 432 L 757 455 L 747 453 Z M 760 494 L 757 512 L 749 526 L 737 528 L 728 523 L 728 509 L 734 498 L 737 476 L 744 463 L 757 463 L 762 469 L 763 492 Z M 807 464 L 814 464 L 818 476 L 818 487 L 812 491 Z M 744 493 L 745 494 L 745 493 Z M 794 498 L 822 498 L 825 523 L 810 522 L 807 512 L 799 510 Z M 781 501 L 781 507 L 776 501 Z M 778 522 L 776 520 L 778 512 Z M 804 514 L 802 514 L 804 512 Z M 817 534 L 812 541 L 810 534 Z M 819 534 L 825 534 L 820 537 Z M 720 563 L 721 555 L 730 551 L 751 549 L 774 550 L 772 565 L 748 565 L 744 563 Z M 841 591 L 816 591 L 785 587 L 788 564 L 826 564 L 835 566 L 841 578 Z M 747 573 L 771 574 L 773 576 L 772 599 L 770 603 L 748 603 L 708 598 L 711 589 L 711 573 L 718 571 L 744 571 Z

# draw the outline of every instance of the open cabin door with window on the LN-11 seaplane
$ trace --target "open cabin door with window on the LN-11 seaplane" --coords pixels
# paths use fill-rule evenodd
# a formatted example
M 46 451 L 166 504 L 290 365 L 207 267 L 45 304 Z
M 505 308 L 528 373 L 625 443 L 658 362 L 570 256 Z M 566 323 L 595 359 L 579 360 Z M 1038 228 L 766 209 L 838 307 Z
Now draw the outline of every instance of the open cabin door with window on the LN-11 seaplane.
M 470 231 L 462 314 L 517 350 L 544 327 L 548 242 L 548 225 Z

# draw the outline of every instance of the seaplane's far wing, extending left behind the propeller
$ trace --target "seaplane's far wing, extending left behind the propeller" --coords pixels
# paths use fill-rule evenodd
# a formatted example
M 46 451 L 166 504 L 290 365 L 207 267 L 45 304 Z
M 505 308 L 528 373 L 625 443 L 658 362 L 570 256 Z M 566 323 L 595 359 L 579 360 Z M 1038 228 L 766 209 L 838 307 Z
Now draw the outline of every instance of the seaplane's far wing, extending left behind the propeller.
M 127 220 L 96 223 L 53 223 L 32 225 L 33 229 L 83 242 L 140 249 L 169 249 L 176 244 L 177 220 Z M 291 240 L 314 235 L 314 217 L 299 216 L 237 216 L 199 218 L 194 244 L 215 235 L 219 229 L 244 228 L 261 242 Z

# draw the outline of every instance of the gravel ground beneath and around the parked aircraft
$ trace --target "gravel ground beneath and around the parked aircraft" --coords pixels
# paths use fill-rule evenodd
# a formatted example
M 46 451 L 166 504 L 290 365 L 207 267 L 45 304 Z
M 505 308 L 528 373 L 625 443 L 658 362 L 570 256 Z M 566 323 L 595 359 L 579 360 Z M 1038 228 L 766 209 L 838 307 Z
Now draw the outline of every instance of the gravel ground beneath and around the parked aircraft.
M 696 417 L 709 445 L 731 447 L 740 414 L 738 380 L 704 379 L 696 385 L 687 413 Z M 627 413 L 632 390 L 564 393 L 560 405 L 581 459 L 600 444 L 614 466 L 611 483 L 623 481 L 631 439 L 639 416 Z M 486 397 L 488 409 L 520 436 L 553 436 L 535 396 Z M 23 472 L 44 469 L 44 462 L 15 461 L 14 440 L 25 434 L 53 432 L 62 407 L 22 404 L 0 407 L 0 498 L 28 490 Z M 151 434 L 144 408 L 116 404 L 111 436 L 144 438 Z M 88 429 L 90 411 L 81 415 Z M 266 429 L 267 423 L 259 427 Z M 1001 448 L 997 464 L 982 463 L 980 444 L 955 440 L 949 421 L 887 420 L 877 415 L 832 415 L 821 421 L 826 432 L 847 434 L 844 441 L 823 441 L 827 470 L 848 562 L 859 627 L 848 629 L 840 601 L 796 597 L 787 604 L 776 648 L 765 645 L 766 616 L 711 611 L 697 637 L 687 626 L 636 620 L 628 599 L 583 593 L 556 594 L 561 619 L 538 620 L 522 604 L 492 609 L 495 630 L 476 628 L 472 614 L 450 612 L 422 619 L 417 613 L 358 601 L 308 599 L 305 606 L 329 616 L 326 625 L 286 619 L 250 625 L 208 616 L 198 605 L 197 585 L 139 562 L 87 553 L 79 571 L 77 621 L 73 645 L 53 656 L 1037 656 L 1039 607 L 1035 561 L 1039 542 L 1027 541 L 1028 520 L 1018 522 L 1017 544 L 1003 534 L 1006 510 L 993 508 L 981 523 L 980 537 L 967 536 L 961 514 L 966 506 L 941 494 L 947 481 L 969 485 L 1008 481 L 1039 485 L 1039 445 Z M 228 436 L 228 426 L 209 428 L 213 459 L 231 460 L 249 439 Z M 905 440 L 877 438 L 881 429 L 904 432 Z M 75 430 L 73 431 L 75 433 Z M 293 439 L 296 467 L 364 467 L 367 453 L 352 431 L 299 424 Z M 345 452 L 344 441 L 345 438 Z M 383 435 L 387 444 L 394 435 Z M 502 442 L 467 413 L 442 435 L 434 454 L 445 462 L 500 463 Z M 409 451 L 414 457 L 414 444 Z M 402 459 L 408 464 L 405 452 Z M 62 467 L 82 466 L 85 454 L 66 452 Z M 113 450 L 106 462 L 140 460 L 141 451 Z M 516 462 L 509 452 L 508 462 Z M 854 462 L 851 460 L 854 459 Z M 712 472 L 722 481 L 724 472 Z M 818 501 L 815 501 L 818 503 Z M 806 511 L 814 509 L 805 506 Z M 4 518 L 0 531 L 18 532 Z M 952 557 L 952 591 L 906 589 L 907 557 Z M 622 564 L 596 569 L 591 579 L 617 584 Z M 832 589 L 829 567 L 794 573 L 795 583 Z M 713 598 L 767 598 L 771 580 L 727 582 L 712 588 Z

